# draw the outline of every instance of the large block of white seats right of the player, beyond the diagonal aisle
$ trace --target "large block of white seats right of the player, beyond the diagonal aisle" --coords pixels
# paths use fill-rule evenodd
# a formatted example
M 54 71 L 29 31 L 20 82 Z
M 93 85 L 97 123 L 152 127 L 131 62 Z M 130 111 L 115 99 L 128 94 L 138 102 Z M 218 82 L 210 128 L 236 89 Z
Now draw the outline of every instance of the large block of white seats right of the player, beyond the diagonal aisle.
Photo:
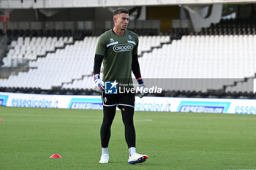
M 252 77 L 256 72 L 255 42 L 256 35 L 183 36 L 144 54 L 141 72 L 148 78 Z M 151 66 L 154 69 L 148 70 Z

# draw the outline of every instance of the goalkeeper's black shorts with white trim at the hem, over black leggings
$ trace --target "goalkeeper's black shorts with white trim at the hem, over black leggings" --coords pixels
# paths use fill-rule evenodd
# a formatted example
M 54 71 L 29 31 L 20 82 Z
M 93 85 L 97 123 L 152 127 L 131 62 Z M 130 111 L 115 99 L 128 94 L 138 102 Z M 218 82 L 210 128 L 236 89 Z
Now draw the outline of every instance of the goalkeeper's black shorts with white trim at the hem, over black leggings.
M 127 106 L 135 107 L 135 94 L 134 93 L 118 93 L 118 94 L 105 94 L 102 93 L 102 104 L 105 107 L 113 106 Z

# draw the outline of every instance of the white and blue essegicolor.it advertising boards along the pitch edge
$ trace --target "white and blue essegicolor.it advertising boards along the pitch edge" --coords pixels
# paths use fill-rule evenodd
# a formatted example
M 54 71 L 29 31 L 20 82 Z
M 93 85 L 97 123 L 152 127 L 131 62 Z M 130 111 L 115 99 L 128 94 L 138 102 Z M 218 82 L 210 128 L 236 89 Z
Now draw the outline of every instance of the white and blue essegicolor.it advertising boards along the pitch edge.
M 256 100 L 217 98 L 136 97 L 136 111 L 208 112 L 256 115 Z M 0 92 L 0 106 L 102 109 L 101 96 L 41 95 Z

